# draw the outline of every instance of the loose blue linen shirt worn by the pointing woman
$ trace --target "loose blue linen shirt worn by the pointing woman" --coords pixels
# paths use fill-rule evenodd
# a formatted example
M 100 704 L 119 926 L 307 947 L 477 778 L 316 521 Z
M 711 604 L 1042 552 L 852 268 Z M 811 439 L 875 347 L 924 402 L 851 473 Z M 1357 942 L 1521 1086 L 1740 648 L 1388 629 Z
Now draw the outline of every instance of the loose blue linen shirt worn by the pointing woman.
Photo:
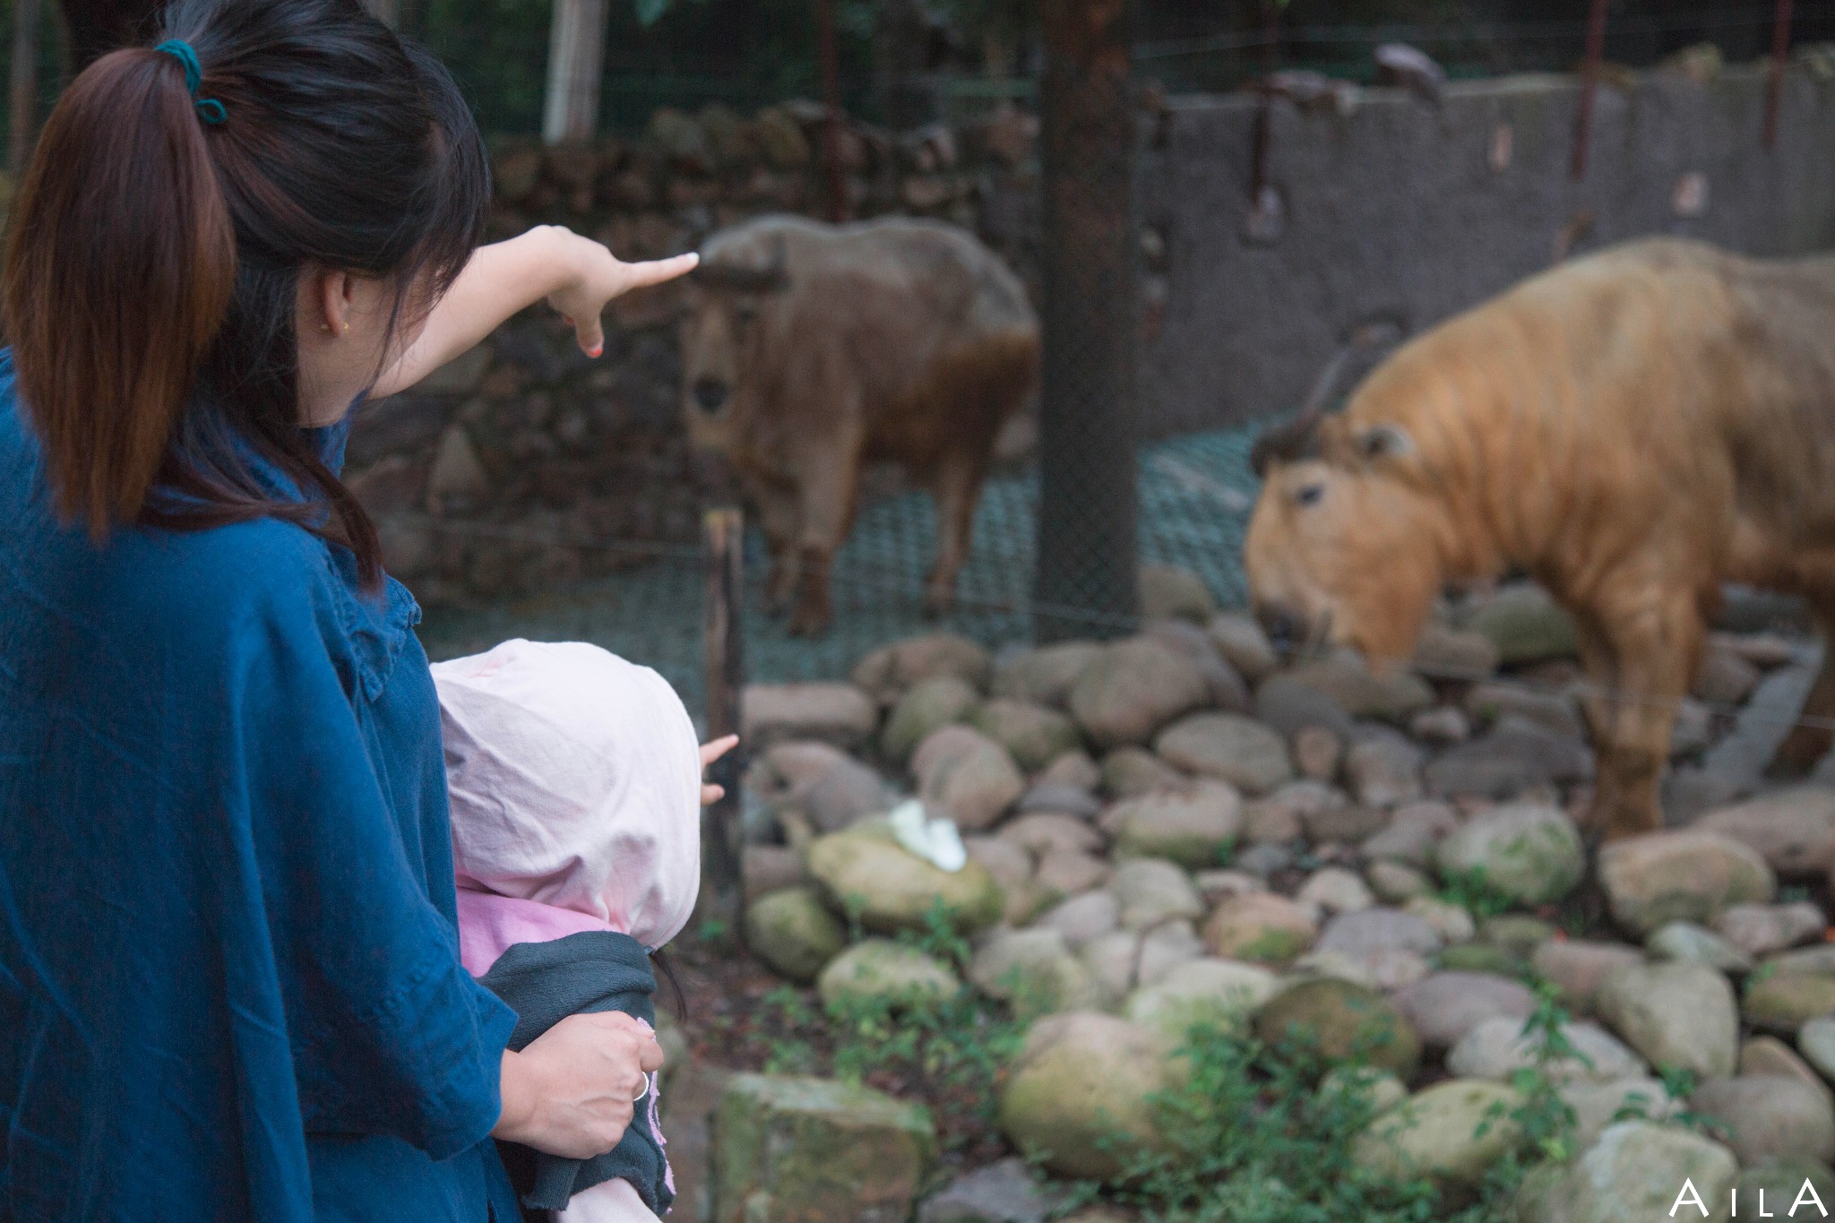
M 517 1217 L 418 618 L 273 519 L 57 523 L 0 352 L 0 1223 Z

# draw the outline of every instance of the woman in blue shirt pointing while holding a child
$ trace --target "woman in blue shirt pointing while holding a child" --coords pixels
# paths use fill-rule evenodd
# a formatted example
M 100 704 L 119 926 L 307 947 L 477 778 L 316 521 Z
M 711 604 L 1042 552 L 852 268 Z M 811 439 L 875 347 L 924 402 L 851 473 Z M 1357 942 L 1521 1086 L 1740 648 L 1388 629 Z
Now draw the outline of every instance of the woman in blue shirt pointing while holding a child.
M 418 609 L 350 407 L 694 257 L 479 248 L 451 79 L 356 0 L 172 0 L 46 123 L 0 352 L 0 1223 L 510 1223 L 492 1135 L 611 1150 L 648 1030 L 521 1052 L 459 963 Z

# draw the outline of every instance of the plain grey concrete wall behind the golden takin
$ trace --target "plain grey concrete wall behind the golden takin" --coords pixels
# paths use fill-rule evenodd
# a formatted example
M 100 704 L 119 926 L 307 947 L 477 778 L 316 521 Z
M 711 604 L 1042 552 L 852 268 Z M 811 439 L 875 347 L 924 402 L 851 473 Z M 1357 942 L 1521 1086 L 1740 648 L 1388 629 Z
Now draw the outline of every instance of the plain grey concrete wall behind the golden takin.
M 1571 77 L 1453 84 L 1440 106 L 1367 92 L 1351 114 L 1277 103 L 1268 176 L 1279 240 L 1244 237 L 1257 103 L 1182 97 L 1141 167 L 1141 220 L 1163 240 L 1163 323 L 1143 352 L 1152 435 L 1294 407 L 1340 336 L 1373 312 L 1413 330 L 1552 262 L 1576 215 L 1574 253 L 1639 235 L 1705 238 L 1752 255 L 1835 246 L 1835 81 L 1793 64 L 1774 150 L 1760 143 L 1765 73 L 1730 68 L 1602 84 L 1585 180 L 1569 182 Z M 1499 136 L 1508 130 L 1508 136 Z M 1508 161 L 1494 158 L 1508 143 Z M 1679 183 L 1707 185 L 1699 215 Z M 1681 194 L 1688 194 L 1681 191 Z

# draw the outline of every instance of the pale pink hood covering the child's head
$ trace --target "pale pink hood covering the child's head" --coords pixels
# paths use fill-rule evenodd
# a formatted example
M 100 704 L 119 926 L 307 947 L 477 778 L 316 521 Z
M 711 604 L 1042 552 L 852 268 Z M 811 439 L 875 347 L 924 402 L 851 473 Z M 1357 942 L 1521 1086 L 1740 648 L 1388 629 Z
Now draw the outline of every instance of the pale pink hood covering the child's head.
M 701 886 L 701 744 L 675 689 L 584 642 L 505 642 L 433 682 L 464 966 L 582 930 L 673 939 Z

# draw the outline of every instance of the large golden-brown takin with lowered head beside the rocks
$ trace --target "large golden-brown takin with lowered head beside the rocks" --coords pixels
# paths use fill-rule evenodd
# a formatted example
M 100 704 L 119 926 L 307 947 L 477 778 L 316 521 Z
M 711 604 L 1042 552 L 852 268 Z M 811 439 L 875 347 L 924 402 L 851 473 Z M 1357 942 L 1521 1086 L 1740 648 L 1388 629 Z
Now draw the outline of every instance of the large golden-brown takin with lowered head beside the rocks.
M 1246 567 L 1270 625 L 1393 662 L 1446 583 L 1527 570 L 1578 627 L 1591 823 L 1644 832 L 1721 583 L 1835 627 L 1835 259 L 1607 249 L 1422 334 L 1343 413 L 1257 449 Z M 1828 658 L 1806 721 L 1835 717 Z M 1778 765 L 1828 746 L 1798 726 Z

